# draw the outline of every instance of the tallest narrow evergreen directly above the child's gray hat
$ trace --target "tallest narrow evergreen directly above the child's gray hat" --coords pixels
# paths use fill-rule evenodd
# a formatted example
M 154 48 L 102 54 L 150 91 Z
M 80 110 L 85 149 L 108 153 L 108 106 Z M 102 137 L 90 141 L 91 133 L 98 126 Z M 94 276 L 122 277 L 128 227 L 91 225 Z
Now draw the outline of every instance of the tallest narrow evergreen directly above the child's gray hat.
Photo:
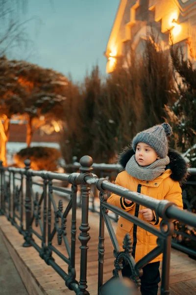
M 172 69 L 169 51 L 162 48 L 159 36 L 154 33 L 153 28 L 147 33 L 141 59 L 140 87 L 146 127 L 164 122 L 164 105 L 170 102 L 173 88 Z

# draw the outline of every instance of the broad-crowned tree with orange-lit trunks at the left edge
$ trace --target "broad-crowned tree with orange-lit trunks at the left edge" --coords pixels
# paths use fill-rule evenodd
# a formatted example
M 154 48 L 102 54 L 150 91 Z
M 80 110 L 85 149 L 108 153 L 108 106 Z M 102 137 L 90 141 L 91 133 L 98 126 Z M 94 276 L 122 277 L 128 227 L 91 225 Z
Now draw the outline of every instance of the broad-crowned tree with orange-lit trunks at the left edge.
M 0 158 L 4 164 L 10 119 L 18 115 L 27 121 L 29 147 L 36 129 L 64 118 L 68 84 L 68 79 L 54 70 L 0 58 Z

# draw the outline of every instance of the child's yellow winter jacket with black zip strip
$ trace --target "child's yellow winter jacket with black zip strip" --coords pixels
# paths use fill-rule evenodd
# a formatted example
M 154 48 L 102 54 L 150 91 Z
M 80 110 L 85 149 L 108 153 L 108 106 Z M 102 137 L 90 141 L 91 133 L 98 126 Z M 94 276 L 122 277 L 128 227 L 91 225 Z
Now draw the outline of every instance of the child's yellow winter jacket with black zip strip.
M 180 155 L 177 153 L 177 156 L 180 156 Z M 184 161 L 182 159 L 180 160 Z M 176 165 L 176 162 L 174 164 Z M 181 169 L 181 174 L 183 174 L 184 176 L 185 168 L 187 166 L 186 166 L 186 163 L 184 162 L 183 162 L 183 165 L 184 165 L 183 173 Z M 173 168 L 172 163 L 171 163 L 171 166 Z M 174 168 L 177 169 L 177 167 L 174 167 Z M 182 209 L 183 208 L 182 190 L 180 188 L 179 182 L 171 178 L 172 173 L 173 171 L 171 169 L 167 169 L 161 176 L 155 178 L 154 180 L 145 181 L 145 180 L 140 180 L 135 177 L 132 177 L 126 171 L 123 171 L 117 176 L 115 183 L 117 185 L 121 185 L 132 191 L 139 192 L 144 195 L 155 198 L 157 200 L 165 199 L 165 200 L 171 201 L 175 203 L 179 208 Z M 176 173 L 178 173 L 178 171 L 176 171 Z M 176 177 L 176 178 L 179 178 L 179 177 Z M 143 217 L 143 214 L 139 213 L 139 210 L 145 208 L 143 206 L 140 206 L 135 203 L 131 203 L 127 207 L 126 204 L 124 203 L 124 198 L 116 194 L 111 194 L 107 202 L 114 206 L 123 208 L 129 214 L 135 215 L 138 218 L 145 220 Z M 145 221 L 149 222 L 147 220 Z M 158 216 L 156 216 L 155 220 L 150 221 L 149 223 L 151 223 L 152 225 L 154 225 L 156 228 L 159 229 L 160 221 L 161 219 Z M 123 251 L 123 238 L 126 233 L 129 233 L 132 238 L 132 242 L 133 242 L 132 254 L 133 254 L 133 257 L 135 256 L 136 262 L 139 261 L 141 258 L 143 258 L 145 255 L 147 255 L 147 253 L 149 253 L 152 249 L 154 249 L 157 246 L 157 243 L 156 243 L 157 236 L 154 236 L 153 234 L 131 223 L 130 221 L 124 219 L 123 217 L 120 217 L 118 221 L 117 232 L 116 232 L 116 237 L 120 246 L 120 251 Z M 159 255 L 151 262 L 157 262 L 161 260 L 162 260 L 162 255 Z

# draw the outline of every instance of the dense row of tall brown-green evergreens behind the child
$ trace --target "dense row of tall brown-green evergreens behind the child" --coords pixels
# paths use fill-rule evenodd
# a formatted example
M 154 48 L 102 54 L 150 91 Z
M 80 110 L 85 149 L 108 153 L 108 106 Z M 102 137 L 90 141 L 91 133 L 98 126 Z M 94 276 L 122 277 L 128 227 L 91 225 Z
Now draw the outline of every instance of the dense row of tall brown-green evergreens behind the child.
M 129 45 L 126 57 L 118 59 L 115 71 L 105 80 L 94 67 L 82 86 L 73 90 L 72 85 L 61 141 L 67 163 L 84 154 L 97 163 L 112 163 L 136 133 L 164 121 L 164 104 L 172 90 L 169 53 L 152 32 L 143 57 Z

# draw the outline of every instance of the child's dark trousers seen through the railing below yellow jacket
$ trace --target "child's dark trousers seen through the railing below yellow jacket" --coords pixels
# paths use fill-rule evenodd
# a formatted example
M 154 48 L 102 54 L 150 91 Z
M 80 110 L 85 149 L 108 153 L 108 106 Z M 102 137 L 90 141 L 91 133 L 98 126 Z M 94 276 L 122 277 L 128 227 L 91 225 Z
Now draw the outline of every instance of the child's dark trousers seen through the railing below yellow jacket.
M 153 262 L 143 267 L 143 275 L 140 277 L 142 295 L 157 295 L 158 283 L 161 281 L 159 266 L 160 262 Z M 123 267 L 122 274 L 126 277 L 131 276 L 131 269 L 128 265 Z

